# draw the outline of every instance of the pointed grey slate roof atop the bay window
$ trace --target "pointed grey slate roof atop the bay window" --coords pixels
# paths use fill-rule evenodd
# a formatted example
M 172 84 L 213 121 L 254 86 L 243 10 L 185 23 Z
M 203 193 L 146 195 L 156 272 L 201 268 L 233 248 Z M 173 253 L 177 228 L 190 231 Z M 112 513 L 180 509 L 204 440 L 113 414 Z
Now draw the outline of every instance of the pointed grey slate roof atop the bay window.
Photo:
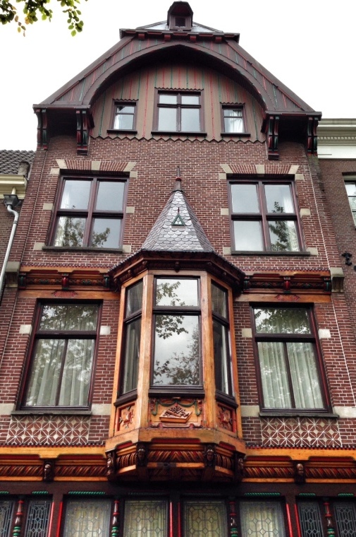
M 154 223 L 142 250 L 160 252 L 213 252 L 197 216 L 185 199 L 180 179 Z

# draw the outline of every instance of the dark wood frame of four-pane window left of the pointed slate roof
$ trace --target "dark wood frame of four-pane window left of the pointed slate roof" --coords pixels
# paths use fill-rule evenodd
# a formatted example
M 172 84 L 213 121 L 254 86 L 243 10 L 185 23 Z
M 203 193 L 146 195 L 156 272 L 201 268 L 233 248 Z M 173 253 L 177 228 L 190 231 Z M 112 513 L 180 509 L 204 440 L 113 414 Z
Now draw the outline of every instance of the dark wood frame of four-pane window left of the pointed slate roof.
M 61 208 L 61 201 L 63 198 L 63 191 L 66 184 L 66 181 L 76 181 L 78 183 L 80 182 L 90 182 L 90 196 L 89 201 L 87 204 L 86 209 L 70 209 L 70 208 Z M 106 182 L 106 183 L 123 183 L 123 196 L 122 196 L 122 206 L 120 211 L 103 211 L 103 210 L 97 210 L 95 208 L 95 204 L 97 203 L 97 192 L 99 188 L 100 182 Z M 52 220 L 52 225 L 49 231 L 49 240 L 48 243 L 51 244 L 51 246 L 44 247 L 44 249 L 62 249 L 62 250 L 78 250 L 83 251 L 85 249 L 90 250 L 99 250 L 99 251 L 113 251 L 118 252 L 122 251 L 122 243 L 123 243 L 123 231 L 124 231 L 124 225 L 125 225 L 125 206 L 126 206 L 126 199 L 127 199 L 127 192 L 128 192 L 128 178 L 127 177 L 111 177 L 111 176 L 105 176 L 105 175 L 63 175 L 59 182 L 59 188 L 57 191 L 56 196 L 56 203 L 54 206 L 54 218 Z M 59 218 L 63 217 L 71 217 L 71 218 L 85 218 L 85 226 L 84 226 L 84 232 L 82 237 L 82 246 L 57 246 L 54 244 L 56 240 L 56 231 L 59 223 Z M 118 236 L 118 243 L 117 247 L 106 247 L 105 245 L 100 246 L 92 246 L 90 245 L 92 241 L 92 226 L 94 222 L 94 218 L 107 218 L 107 219 L 113 219 L 113 220 L 120 220 L 120 232 Z

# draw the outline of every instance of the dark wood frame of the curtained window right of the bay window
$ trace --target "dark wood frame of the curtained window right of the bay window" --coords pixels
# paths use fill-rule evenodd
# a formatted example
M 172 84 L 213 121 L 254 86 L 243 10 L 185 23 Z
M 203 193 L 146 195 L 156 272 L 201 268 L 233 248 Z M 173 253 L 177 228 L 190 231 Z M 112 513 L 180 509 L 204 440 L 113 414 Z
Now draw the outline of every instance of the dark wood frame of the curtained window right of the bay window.
M 304 309 L 305 312 L 307 312 L 307 318 L 309 321 L 309 327 L 310 327 L 310 334 L 286 334 L 286 333 L 257 333 L 256 325 L 254 322 L 254 309 L 269 309 L 269 308 L 279 308 L 279 309 Z M 316 319 L 314 317 L 314 312 L 312 309 L 312 305 L 308 304 L 298 304 L 298 305 L 280 305 L 276 303 L 269 303 L 264 302 L 262 304 L 251 304 L 250 305 L 250 311 L 251 311 L 251 321 L 252 321 L 252 337 L 253 337 L 253 346 L 254 346 L 254 363 L 256 367 L 257 372 L 257 389 L 259 392 L 259 401 L 260 401 L 260 413 L 261 416 L 269 416 L 269 415 L 276 415 L 276 416 L 288 416 L 288 415 L 309 415 L 313 417 L 318 417 L 319 415 L 321 417 L 330 417 L 330 418 L 337 418 L 337 415 L 332 413 L 331 408 L 331 401 L 329 397 L 329 388 L 326 381 L 326 373 L 324 369 L 324 362 L 321 355 L 321 348 L 319 345 L 319 338 L 317 337 L 317 324 Z M 257 343 L 259 341 L 270 341 L 270 342 L 281 342 L 283 343 L 283 353 L 284 357 L 286 359 L 286 367 L 288 372 L 288 387 L 290 389 L 291 399 L 293 406 L 292 408 L 269 408 L 264 406 L 264 394 L 262 389 L 262 373 L 261 373 L 261 367 L 259 363 L 259 351 Z M 314 349 L 314 358 L 317 366 L 317 375 L 318 375 L 318 381 L 319 381 L 319 389 L 321 392 L 321 398 L 323 400 L 323 407 L 321 408 L 296 408 L 295 407 L 295 399 L 293 394 L 293 384 L 291 380 L 291 374 L 290 374 L 290 363 L 288 354 L 286 351 L 286 343 L 292 343 L 292 342 L 305 342 L 305 343 L 312 343 L 313 349 Z

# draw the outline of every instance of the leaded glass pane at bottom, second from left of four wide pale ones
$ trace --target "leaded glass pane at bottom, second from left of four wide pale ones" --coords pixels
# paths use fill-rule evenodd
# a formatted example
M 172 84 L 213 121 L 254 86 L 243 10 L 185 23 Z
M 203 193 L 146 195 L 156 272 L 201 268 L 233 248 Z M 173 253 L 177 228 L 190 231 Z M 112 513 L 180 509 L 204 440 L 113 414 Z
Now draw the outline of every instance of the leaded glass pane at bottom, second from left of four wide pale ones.
M 167 502 L 128 500 L 125 502 L 123 537 L 166 537 Z

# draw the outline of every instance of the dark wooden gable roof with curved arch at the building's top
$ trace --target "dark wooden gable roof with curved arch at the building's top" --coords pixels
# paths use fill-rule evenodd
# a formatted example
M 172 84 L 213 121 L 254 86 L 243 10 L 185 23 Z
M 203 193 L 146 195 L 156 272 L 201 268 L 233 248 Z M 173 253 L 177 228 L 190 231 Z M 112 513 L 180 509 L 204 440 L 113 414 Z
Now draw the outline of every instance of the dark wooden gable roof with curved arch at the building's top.
M 159 23 L 164 25 L 164 23 Z M 170 54 L 180 47 L 198 61 L 214 63 L 231 78 L 243 80 L 269 112 L 314 112 L 293 91 L 267 71 L 238 45 L 238 34 L 226 34 L 193 23 L 187 32 L 154 29 L 123 30 L 124 37 L 97 61 L 40 103 L 40 107 L 90 107 L 97 95 L 121 70 L 135 62 L 154 61 L 155 55 Z

